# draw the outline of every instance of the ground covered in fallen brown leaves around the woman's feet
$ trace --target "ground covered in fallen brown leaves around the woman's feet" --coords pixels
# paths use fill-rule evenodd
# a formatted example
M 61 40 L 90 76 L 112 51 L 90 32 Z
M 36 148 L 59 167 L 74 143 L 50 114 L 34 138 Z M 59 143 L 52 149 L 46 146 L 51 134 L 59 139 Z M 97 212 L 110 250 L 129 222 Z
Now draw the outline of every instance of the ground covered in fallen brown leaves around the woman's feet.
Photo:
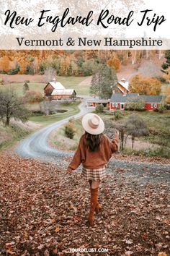
M 110 167 L 100 185 L 102 212 L 91 228 L 89 184 L 81 171 L 66 175 L 66 165 L 1 154 L 0 255 L 100 255 L 71 248 L 107 249 L 102 255 L 169 255 L 166 179 L 140 184 L 126 168 Z

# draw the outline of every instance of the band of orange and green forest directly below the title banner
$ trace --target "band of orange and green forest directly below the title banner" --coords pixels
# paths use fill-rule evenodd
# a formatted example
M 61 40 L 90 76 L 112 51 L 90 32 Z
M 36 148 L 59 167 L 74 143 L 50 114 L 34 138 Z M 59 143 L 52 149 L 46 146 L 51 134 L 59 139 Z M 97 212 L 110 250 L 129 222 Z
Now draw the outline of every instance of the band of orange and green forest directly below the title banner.
M 45 74 L 53 69 L 61 76 L 89 76 L 107 64 L 119 72 L 127 64 L 163 59 L 164 51 L 0 51 L 1 74 Z

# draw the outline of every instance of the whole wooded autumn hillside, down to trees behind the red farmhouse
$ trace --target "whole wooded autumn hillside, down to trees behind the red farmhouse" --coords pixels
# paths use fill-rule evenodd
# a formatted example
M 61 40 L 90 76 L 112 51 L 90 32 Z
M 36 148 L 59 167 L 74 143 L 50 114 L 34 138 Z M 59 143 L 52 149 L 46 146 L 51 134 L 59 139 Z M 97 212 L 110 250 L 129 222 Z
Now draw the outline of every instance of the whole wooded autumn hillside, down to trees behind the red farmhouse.
M 159 95 L 163 92 L 162 85 L 169 85 L 170 51 L 2 50 L 0 74 L 1 84 L 14 82 L 9 80 L 14 74 L 37 75 L 43 77 L 44 82 L 56 76 L 91 76 L 90 95 L 103 97 L 104 92 L 107 92 L 105 98 L 112 94 L 117 80 L 125 77 L 130 82 L 131 93 Z M 24 80 L 27 80 L 26 77 Z M 169 102 L 169 86 L 166 87 L 163 93 Z

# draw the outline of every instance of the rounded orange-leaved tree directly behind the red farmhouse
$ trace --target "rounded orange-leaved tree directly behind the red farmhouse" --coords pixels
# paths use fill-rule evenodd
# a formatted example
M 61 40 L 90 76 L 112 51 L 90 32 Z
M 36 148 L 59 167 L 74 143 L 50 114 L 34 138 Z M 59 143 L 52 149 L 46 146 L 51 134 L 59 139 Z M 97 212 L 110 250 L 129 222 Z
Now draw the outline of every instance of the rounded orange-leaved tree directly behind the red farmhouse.
M 161 82 L 154 77 L 142 77 L 141 74 L 137 74 L 130 81 L 129 90 L 130 93 L 159 95 L 161 93 Z

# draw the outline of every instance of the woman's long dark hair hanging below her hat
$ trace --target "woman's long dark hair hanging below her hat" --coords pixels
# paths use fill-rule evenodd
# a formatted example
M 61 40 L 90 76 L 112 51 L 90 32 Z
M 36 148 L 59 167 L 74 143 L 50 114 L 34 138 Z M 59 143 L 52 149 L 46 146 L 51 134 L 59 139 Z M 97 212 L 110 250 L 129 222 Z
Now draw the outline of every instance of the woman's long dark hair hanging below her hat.
M 90 151 L 97 151 L 99 149 L 100 142 L 102 141 L 103 134 L 91 135 L 89 132 L 85 132 L 84 138 L 86 148 L 89 148 Z

